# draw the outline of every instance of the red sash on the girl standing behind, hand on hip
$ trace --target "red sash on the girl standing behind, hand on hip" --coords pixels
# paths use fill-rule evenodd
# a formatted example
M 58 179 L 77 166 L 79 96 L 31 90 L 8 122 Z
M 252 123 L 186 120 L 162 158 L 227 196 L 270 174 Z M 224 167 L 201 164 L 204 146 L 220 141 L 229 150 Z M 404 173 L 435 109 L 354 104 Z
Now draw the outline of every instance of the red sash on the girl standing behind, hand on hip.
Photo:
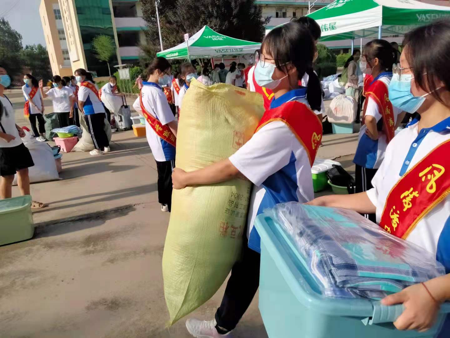
M 389 100 L 389 92 L 387 91 L 387 86 L 384 82 L 377 80 L 371 86 L 369 86 L 368 91 L 365 93 L 366 100 L 364 104 L 364 112 L 362 124 L 365 124 L 365 113 L 367 109 L 367 104 L 369 103 L 369 97 L 373 98 L 378 105 L 378 111 L 381 116 L 383 116 L 383 131 L 386 134 L 386 143 L 391 142 L 395 134 L 395 118 L 394 118 L 394 108 Z

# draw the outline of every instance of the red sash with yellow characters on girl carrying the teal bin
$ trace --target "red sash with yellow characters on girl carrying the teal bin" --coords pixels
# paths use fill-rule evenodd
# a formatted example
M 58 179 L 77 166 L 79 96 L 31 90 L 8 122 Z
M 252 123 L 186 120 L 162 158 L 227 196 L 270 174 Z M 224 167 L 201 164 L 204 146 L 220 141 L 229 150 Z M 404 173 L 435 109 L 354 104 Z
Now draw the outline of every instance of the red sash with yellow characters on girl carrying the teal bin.
M 449 194 L 449 152 L 447 140 L 400 178 L 387 196 L 381 228 L 406 239 L 419 221 Z

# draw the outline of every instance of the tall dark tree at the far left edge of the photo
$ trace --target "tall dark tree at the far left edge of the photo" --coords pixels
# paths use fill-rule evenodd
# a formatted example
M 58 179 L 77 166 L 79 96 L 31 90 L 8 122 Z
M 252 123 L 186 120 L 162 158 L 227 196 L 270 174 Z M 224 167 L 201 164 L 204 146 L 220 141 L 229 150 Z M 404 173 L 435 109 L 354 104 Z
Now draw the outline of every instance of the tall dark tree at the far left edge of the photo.
M 0 18 L 0 63 L 14 78 L 22 71 L 22 35 L 14 30 L 5 18 Z

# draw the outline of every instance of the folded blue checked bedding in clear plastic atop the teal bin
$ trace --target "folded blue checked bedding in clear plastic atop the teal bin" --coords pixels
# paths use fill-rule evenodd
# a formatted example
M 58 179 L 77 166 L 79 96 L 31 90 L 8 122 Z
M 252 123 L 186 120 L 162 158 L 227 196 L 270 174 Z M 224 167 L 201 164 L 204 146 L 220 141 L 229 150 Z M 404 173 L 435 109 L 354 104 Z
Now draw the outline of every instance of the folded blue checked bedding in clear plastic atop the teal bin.
M 327 297 L 380 299 L 445 274 L 436 256 L 354 211 L 290 202 L 265 213 L 282 225 Z

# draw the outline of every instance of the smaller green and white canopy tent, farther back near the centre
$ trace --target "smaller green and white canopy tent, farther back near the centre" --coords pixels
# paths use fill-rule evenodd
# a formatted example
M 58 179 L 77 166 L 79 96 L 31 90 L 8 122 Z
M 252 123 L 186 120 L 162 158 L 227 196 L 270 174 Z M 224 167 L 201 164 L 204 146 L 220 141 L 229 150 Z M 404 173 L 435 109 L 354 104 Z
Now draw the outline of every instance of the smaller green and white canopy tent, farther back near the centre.
M 189 42 L 189 46 L 188 46 Z M 212 58 L 223 55 L 245 55 L 254 54 L 261 43 L 227 37 L 213 31 L 208 26 L 203 26 L 188 41 L 180 45 L 163 50 L 157 56 L 166 59 L 198 59 Z

